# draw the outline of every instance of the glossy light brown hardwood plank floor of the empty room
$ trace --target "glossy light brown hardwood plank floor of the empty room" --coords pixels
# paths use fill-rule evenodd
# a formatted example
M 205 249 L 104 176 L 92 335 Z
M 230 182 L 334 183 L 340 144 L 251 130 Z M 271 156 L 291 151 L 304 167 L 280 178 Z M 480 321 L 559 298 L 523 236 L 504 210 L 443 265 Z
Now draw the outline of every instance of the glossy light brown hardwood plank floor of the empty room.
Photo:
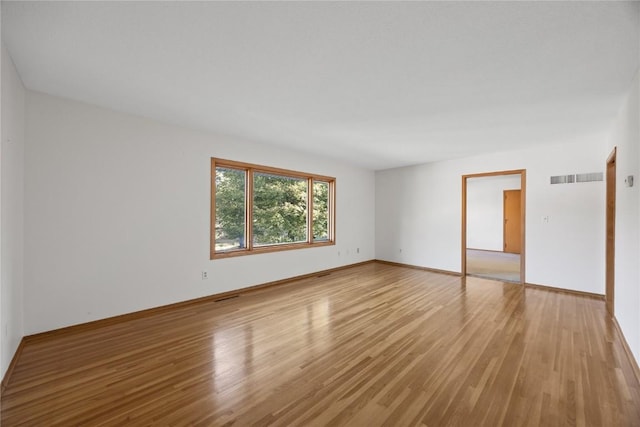
M 27 342 L 13 425 L 640 425 L 604 302 L 367 264 Z

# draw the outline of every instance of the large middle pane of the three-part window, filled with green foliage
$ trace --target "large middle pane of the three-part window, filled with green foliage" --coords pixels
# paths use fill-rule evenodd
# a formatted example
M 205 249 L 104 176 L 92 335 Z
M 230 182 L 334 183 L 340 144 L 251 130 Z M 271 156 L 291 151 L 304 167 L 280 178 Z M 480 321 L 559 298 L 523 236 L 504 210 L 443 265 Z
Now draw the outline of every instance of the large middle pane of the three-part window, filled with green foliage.
M 307 241 L 307 180 L 253 175 L 253 244 Z

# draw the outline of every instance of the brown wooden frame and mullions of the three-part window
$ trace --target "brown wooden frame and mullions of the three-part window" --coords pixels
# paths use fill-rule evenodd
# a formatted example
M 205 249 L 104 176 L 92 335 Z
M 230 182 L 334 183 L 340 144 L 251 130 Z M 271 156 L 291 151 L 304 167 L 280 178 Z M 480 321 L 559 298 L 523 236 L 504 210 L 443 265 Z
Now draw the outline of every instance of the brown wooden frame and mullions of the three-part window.
M 246 247 L 216 252 L 216 168 L 229 168 L 246 172 L 245 179 L 245 240 Z M 307 240 L 296 243 L 278 243 L 273 245 L 253 245 L 253 176 L 255 173 L 280 175 L 287 178 L 307 180 Z M 321 181 L 329 184 L 328 239 L 313 239 L 313 182 Z M 316 175 L 289 169 L 243 163 L 233 160 L 211 158 L 211 232 L 210 259 L 255 255 L 268 252 L 288 251 L 292 249 L 315 248 L 336 244 L 336 179 L 330 176 Z

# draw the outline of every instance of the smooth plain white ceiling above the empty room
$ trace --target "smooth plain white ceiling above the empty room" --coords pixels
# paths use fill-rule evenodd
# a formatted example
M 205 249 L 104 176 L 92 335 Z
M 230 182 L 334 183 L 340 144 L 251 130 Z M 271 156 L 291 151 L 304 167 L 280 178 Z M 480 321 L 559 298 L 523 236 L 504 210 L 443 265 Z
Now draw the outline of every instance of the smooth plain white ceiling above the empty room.
M 384 169 L 604 133 L 636 2 L 2 2 L 33 90 Z

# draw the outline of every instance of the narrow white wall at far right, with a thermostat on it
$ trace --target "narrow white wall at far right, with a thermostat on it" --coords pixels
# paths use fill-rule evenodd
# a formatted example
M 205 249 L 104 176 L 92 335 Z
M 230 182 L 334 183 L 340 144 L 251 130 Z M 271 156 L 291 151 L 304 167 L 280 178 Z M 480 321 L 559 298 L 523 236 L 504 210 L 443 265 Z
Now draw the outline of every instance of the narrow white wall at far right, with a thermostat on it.
M 640 361 L 640 74 L 616 120 L 608 150 L 616 155 L 616 249 L 614 311 Z M 633 187 L 625 177 L 634 175 Z

